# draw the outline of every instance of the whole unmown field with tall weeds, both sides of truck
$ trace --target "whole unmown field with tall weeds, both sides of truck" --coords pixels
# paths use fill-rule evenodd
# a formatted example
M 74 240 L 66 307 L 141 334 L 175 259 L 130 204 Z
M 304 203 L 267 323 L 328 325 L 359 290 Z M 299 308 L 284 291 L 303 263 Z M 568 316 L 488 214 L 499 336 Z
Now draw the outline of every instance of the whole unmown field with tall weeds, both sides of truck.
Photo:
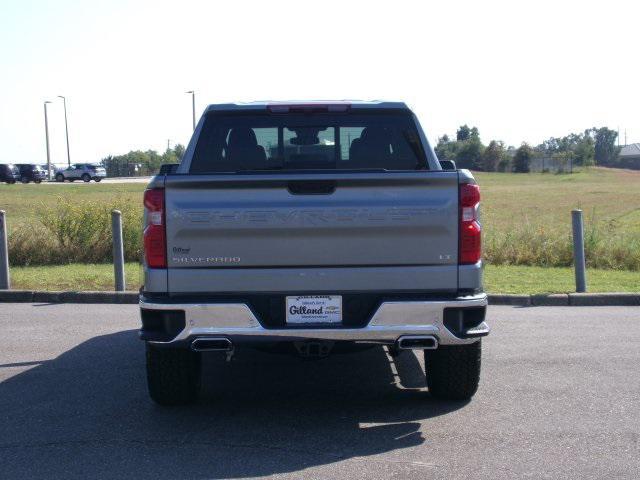
M 640 172 L 591 168 L 571 175 L 475 175 L 482 189 L 488 263 L 571 266 L 571 209 L 582 208 L 588 265 L 640 272 Z M 108 213 L 100 206 L 123 210 L 129 226 L 127 258 L 140 258 L 143 189 L 144 184 L 0 185 L 13 264 L 25 265 L 29 259 L 35 259 L 34 264 L 108 261 L 109 224 L 103 218 Z M 73 228 L 67 228 L 72 223 Z M 92 231 L 99 236 L 92 237 Z

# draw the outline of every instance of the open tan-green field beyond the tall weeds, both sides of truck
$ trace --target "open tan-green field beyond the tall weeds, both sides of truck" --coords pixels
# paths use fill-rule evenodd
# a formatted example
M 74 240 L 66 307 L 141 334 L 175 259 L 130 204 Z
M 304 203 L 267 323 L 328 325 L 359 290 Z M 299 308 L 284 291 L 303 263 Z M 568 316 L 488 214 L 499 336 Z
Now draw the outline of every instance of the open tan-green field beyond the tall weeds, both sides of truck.
M 572 175 L 552 173 L 475 172 L 482 188 L 485 230 L 508 231 L 517 224 L 545 225 L 553 230 L 570 225 L 572 208 L 582 208 L 588 219 L 627 232 L 640 232 L 640 171 L 591 168 Z M 42 205 L 57 197 L 74 203 L 142 204 L 145 185 L 0 184 L 0 208 L 13 225 L 32 222 Z

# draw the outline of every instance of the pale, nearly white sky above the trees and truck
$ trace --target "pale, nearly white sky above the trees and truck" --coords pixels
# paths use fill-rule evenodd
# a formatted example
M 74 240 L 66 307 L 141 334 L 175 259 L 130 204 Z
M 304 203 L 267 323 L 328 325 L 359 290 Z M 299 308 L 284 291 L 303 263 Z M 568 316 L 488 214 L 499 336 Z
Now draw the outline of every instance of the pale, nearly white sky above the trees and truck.
M 428 138 L 640 142 L 637 1 L 0 0 L 0 163 L 163 151 L 191 97 L 405 101 Z

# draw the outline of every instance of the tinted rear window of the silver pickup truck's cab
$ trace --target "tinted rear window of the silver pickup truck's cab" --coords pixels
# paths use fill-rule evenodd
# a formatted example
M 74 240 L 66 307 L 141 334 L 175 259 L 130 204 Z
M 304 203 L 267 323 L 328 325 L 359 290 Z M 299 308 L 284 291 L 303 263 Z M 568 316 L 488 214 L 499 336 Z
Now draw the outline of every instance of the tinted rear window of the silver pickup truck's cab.
M 406 112 L 211 113 L 190 173 L 426 168 Z

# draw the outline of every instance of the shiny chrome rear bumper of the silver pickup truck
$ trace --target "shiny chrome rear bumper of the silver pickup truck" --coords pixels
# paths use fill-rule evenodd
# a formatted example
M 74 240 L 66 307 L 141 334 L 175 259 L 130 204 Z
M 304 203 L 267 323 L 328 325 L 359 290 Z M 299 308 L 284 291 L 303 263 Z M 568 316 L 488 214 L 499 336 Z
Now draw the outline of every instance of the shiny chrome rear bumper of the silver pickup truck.
M 170 341 L 155 344 L 189 343 L 194 338 L 223 337 L 234 344 L 261 341 L 333 340 L 358 343 L 394 344 L 402 336 L 433 335 L 440 345 L 473 343 L 489 334 L 482 321 L 464 335 L 454 334 L 445 325 L 445 309 L 465 310 L 487 306 L 486 294 L 452 300 L 383 302 L 362 328 L 264 328 L 244 303 L 162 303 L 141 297 L 145 310 L 183 311 L 185 327 Z

